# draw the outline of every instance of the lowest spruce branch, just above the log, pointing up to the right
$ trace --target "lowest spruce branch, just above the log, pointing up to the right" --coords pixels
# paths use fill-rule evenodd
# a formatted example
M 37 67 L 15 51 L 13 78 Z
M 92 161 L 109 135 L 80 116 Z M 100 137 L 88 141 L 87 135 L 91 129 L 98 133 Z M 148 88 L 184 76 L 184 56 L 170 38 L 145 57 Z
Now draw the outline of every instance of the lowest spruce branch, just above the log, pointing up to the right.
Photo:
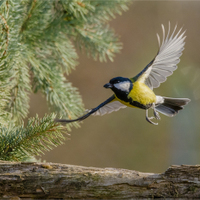
M 29 119 L 27 126 L 0 128 L 0 160 L 23 160 L 44 154 L 63 144 L 64 128 L 54 123 L 55 114 Z M 66 131 L 65 131 L 66 132 Z

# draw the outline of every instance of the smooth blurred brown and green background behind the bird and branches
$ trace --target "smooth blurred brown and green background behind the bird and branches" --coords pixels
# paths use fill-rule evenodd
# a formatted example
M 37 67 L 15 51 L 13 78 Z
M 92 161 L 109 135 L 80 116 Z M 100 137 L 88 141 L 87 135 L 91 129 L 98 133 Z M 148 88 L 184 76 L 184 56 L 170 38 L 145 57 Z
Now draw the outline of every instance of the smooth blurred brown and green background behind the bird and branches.
M 116 76 L 133 77 L 156 55 L 161 24 L 186 29 L 186 45 L 178 70 L 155 89 L 158 95 L 188 97 L 192 101 L 176 117 L 161 115 L 158 126 L 146 122 L 140 109 L 121 109 L 103 117 L 89 117 L 73 129 L 70 140 L 47 152 L 42 160 L 143 172 L 163 172 L 172 164 L 200 162 L 200 2 L 133 1 L 129 11 L 110 24 L 123 49 L 114 62 L 100 63 L 79 52 L 79 65 L 68 79 L 79 88 L 85 108 L 93 108 L 112 92 L 103 88 Z M 44 97 L 31 96 L 29 117 L 48 112 Z

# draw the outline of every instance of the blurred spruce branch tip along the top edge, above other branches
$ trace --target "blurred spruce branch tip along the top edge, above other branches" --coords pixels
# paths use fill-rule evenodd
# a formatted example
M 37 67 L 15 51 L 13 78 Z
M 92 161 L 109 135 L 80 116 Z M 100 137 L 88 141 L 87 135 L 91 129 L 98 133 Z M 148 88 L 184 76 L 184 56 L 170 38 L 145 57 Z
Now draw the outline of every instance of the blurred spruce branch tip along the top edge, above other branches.
M 105 23 L 115 18 L 116 14 L 121 15 L 128 10 L 130 0 L 61 0 L 63 9 L 66 11 L 66 19 L 91 23 Z

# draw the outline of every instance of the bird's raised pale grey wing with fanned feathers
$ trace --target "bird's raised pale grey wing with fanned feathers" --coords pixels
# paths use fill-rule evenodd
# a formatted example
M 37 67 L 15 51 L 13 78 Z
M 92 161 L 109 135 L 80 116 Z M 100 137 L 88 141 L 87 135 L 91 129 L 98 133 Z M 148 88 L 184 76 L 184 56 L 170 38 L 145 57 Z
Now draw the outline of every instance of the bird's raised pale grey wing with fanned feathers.
M 179 57 L 182 55 L 184 49 L 184 32 L 182 28 L 175 34 L 177 26 L 175 26 L 170 36 L 170 23 L 168 28 L 167 36 L 165 37 L 165 28 L 162 25 L 163 39 L 160 42 L 158 37 L 159 51 L 156 57 L 134 78 L 132 81 L 144 82 L 151 89 L 160 86 L 160 83 L 166 81 L 167 77 L 170 76 L 174 70 L 177 69 L 177 64 L 180 62 Z

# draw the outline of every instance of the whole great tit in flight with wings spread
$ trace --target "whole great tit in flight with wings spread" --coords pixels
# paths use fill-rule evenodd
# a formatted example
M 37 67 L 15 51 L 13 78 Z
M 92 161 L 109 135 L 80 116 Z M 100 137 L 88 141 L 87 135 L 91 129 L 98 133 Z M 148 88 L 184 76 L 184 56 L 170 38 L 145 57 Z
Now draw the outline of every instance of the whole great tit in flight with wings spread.
M 160 83 L 166 81 L 167 77 L 172 75 L 177 69 L 179 57 L 184 49 L 185 31 L 182 28 L 175 34 L 177 26 L 175 26 L 172 34 L 170 34 L 170 23 L 167 35 L 165 37 L 165 28 L 162 26 L 163 39 L 157 34 L 159 51 L 155 58 L 135 77 L 124 78 L 116 77 L 105 84 L 105 88 L 110 88 L 114 94 L 96 108 L 88 110 L 88 112 L 77 119 L 58 119 L 57 122 L 75 122 L 82 121 L 90 115 L 104 115 L 120 108 L 133 107 L 145 110 L 146 120 L 154 125 L 151 121 L 154 117 L 159 120 L 159 113 L 168 117 L 175 116 L 183 106 L 190 102 L 188 98 L 170 98 L 155 95 L 153 88 L 160 86 Z M 153 109 L 154 117 L 148 117 L 148 110 Z

